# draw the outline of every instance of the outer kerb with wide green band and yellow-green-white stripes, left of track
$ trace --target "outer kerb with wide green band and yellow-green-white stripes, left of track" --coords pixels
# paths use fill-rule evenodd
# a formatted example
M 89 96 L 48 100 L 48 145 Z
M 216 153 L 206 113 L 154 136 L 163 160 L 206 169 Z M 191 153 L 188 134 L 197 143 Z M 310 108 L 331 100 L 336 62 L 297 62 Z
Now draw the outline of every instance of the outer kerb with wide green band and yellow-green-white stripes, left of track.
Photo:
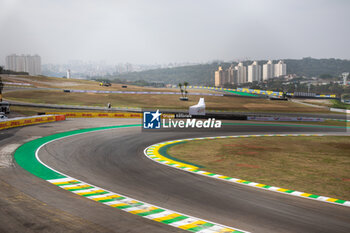
M 69 132 L 63 132 L 53 134 L 50 136 L 35 139 L 20 146 L 15 152 L 16 162 L 25 170 L 31 174 L 46 180 L 47 182 L 62 188 L 68 192 L 93 200 L 100 204 L 116 208 L 121 211 L 125 211 L 130 214 L 138 215 L 143 218 L 147 218 L 152 221 L 166 224 L 168 226 L 176 227 L 179 229 L 187 230 L 189 232 L 198 233 L 223 233 L 234 232 L 243 233 L 246 231 L 238 230 L 233 227 L 224 226 L 200 218 L 192 217 L 186 214 L 182 214 L 176 211 L 165 209 L 153 204 L 142 202 L 122 194 L 111 192 L 107 189 L 100 188 L 98 186 L 83 182 L 81 180 L 70 177 L 63 174 L 48 165 L 44 164 L 39 156 L 38 152 L 44 145 L 63 139 L 66 137 L 79 135 L 83 133 L 126 128 L 137 127 L 141 125 L 120 125 L 110 127 L 99 127 L 90 129 L 81 129 Z

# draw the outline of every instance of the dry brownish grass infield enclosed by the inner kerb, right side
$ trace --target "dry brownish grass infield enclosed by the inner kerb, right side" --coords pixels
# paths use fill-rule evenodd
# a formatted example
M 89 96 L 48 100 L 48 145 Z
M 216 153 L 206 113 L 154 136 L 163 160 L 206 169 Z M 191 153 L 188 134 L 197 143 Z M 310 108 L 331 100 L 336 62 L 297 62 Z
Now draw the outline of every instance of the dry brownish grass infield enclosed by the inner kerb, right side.
M 205 171 L 350 200 L 350 137 L 197 140 L 167 153 Z

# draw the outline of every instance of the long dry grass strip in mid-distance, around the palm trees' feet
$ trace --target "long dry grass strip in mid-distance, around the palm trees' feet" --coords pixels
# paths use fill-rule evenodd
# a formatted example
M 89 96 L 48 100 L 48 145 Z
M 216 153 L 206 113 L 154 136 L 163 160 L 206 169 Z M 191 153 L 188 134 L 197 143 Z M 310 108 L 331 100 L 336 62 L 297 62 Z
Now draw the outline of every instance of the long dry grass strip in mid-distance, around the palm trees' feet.
M 68 104 L 86 106 L 145 107 L 188 109 L 198 103 L 200 96 L 189 96 L 189 101 L 179 101 L 180 95 L 144 95 L 144 94 L 96 94 L 64 93 L 63 91 L 13 91 L 4 94 L 4 98 L 31 103 Z M 257 111 L 257 112 L 327 112 L 324 109 L 310 108 L 289 101 L 271 101 L 259 98 L 206 96 L 208 110 Z

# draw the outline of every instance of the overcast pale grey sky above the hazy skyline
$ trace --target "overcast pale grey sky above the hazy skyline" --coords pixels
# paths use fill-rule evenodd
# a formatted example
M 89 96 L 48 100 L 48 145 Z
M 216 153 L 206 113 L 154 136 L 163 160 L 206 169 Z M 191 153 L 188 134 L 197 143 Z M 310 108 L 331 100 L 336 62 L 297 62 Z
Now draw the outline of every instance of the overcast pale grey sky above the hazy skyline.
M 0 64 L 350 59 L 349 0 L 0 0 Z

